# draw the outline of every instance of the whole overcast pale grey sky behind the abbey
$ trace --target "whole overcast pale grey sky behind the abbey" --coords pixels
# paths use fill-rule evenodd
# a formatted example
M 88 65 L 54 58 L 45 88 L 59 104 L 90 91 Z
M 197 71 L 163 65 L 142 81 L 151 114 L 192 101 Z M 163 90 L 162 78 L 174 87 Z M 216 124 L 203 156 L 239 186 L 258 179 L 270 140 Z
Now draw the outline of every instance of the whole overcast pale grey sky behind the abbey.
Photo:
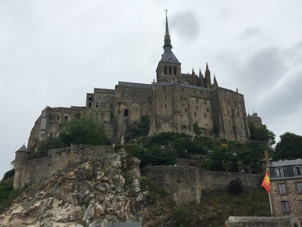
M 94 87 L 156 79 L 164 9 L 183 73 L 208 62 L 277 140 L 302 135 L 302 1 L 186 2 L 0 1 L 0 175 L 46 106 L 85 106 Z

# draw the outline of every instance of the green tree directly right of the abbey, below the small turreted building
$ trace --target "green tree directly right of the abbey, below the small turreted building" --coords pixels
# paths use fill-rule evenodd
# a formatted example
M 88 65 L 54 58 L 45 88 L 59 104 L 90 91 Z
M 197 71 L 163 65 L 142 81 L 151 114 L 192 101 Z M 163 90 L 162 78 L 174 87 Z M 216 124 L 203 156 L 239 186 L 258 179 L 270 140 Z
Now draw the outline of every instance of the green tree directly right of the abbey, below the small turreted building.
M 276 143 L 275 133 L 268 130 L 266 127 L 257 127 L 249 121 L 249 130 L 251 133 L 251 136 L 249 137 L 250 140 L 268 141 L 271 145 Z

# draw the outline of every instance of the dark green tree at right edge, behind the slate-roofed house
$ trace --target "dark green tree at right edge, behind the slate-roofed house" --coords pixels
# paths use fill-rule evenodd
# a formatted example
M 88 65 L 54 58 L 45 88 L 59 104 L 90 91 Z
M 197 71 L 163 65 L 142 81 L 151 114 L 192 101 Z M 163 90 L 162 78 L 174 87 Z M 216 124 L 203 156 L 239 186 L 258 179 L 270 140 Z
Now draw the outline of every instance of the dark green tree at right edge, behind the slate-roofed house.
M 302 136 L 286 132 L 275 147 L 274 160 L 302 159 Z

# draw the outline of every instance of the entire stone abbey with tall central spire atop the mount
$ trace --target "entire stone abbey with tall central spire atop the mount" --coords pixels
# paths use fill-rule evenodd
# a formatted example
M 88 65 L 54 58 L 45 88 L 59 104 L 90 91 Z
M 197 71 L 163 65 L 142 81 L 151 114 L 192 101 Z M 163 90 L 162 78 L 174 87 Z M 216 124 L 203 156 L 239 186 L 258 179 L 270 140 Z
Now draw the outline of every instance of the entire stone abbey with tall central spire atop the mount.
M 172 131 L 194 134 L 193 124 L 219 138 L 249 141 L 249 126 L 243 94 L 212 83 L 206 64 L 205 73 L 182 73 L 181 63 L 172 52 L 166 16 L 164 52 L 156 68 L 156 81 L 151 84 L 121 82 L 114 89 L 94 88 L 87 93 L 85 107 L 46 107 L 34 124 L 27 149 L 33 154 L 39 141 L 58 136 L 59 124 L 72 115 L 88 112 L 104 121 L 114 141 L 124 143 L 127 127 L 135 127 L 148 115 L 150 132 Z

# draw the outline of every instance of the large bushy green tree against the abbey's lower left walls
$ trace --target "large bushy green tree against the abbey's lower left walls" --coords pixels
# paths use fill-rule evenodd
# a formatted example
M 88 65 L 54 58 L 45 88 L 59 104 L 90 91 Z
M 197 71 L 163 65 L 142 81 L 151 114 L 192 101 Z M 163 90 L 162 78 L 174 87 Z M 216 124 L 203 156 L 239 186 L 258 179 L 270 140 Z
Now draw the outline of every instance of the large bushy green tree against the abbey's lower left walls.
M 111 141 L 106 136 L 103 122 L 83 114 L 77 119 L 73 116 L 69 121 L 61 124 L 59 139 L 65 146 L 73 144 L 110 145 Z

